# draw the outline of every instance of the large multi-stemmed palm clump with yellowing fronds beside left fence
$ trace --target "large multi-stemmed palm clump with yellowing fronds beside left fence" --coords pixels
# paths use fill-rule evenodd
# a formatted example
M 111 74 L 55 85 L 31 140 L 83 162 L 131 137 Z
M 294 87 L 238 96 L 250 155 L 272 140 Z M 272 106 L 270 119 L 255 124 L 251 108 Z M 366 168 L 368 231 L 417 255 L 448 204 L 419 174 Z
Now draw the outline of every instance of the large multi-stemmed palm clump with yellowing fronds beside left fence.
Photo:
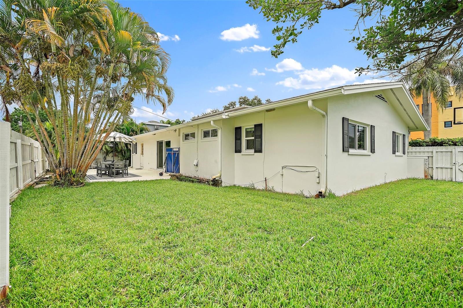
M 58 180 L 86 174 L 129 119 L 134 96 L 164 111 L 172 103 L 169 55 L 148 23 L 114 0 L 3 0 L 0 37 L 1 90 L 36 118 L 45 111 L 50 123 L 31 126 Z

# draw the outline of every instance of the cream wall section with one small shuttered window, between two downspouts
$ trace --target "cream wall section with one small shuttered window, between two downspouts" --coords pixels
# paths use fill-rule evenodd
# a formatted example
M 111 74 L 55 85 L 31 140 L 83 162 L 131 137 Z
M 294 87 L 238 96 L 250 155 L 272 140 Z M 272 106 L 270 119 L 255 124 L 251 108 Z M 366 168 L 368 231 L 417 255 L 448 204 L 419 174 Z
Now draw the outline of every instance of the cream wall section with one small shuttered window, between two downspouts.
M 307 104 L 276 108 L 275 111 L 260 111 L 239 117 L 228 118 L 224 122 L 223 155 L 224 185 L 251 185 L 267 187 L 275 191 L 317 193 L 320 184 L 316 183 L 317 172 L 296 172 L 282 166 L 301 171 L 322 169 L 324 147 L 324 118 L 310 111 Z M 263 124 L 262 153 L 246 153 L 244 143 L 242 153 L 234 153 L 234 129 Z M 244 139 L 242 138 L 242 141 Z M 324 181 L 322 176 L 321 181 Z M 323 182 L 322 182 L 323 183 Z

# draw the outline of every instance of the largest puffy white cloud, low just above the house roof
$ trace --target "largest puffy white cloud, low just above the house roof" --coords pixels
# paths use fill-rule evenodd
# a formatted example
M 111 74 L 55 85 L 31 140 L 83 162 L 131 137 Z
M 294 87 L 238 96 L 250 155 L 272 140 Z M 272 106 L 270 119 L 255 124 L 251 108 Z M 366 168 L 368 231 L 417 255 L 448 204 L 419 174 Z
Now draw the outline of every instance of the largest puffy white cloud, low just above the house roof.
M 297 78 L 288 77 L 276 84 L 293 89 L 326 89 L 342 86 L 357 79 L 355 69 L 341 68 L 333 65 L 330 68 L 312 68 L 297 72 Z

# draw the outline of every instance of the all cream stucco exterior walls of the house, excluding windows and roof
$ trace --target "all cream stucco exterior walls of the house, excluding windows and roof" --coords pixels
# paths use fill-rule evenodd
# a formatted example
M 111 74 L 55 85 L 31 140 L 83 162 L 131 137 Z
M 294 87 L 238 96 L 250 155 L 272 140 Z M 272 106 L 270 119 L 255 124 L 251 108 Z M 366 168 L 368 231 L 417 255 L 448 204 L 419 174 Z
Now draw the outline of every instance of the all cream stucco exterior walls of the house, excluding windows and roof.
M 375 95 L 381 94 L 388 102 Z M 313 195 L 327 190 L 337 195 L 350 191 L 407 178 L 407 155 L 402 153 L 402 141 L 407 140 L 410 110 L 418 114 L 408 101 L 401 101 L 394 91 L 358 92 L 313 100 L 314 105 L 328 114 L 325 117 L 311 111 L 307 101 L 291 102 L 269 110 L 228 117 L 214 124 L 221 129 L 216 138 L 203 138 L 204 129 L 213 129 L 210 121 L 179 126 L 176 132 L 167 130 L 137 137 L 138 153 L 134 166 L 140 160 L 141 142 L 144 142 L 144 168 L 156 168 L 156 141 L 171 140 L 180 147 L 180 172 L 185 175 L 212 178 L 219 174 L 223 185 L 254 185 L 289 193 Z M 384 99 L 383 98 L 383 99 Z M 291 105 L 294 104 L 294 105 Z M 407 105 L 405 110 L 404 105 Z M 215 116 L 217 117 L 217 116 Z M 367 126 L 366 152 L 343 152 L 342 118 Z M 408 122 L 407 122 L 408 121 Z M 415 118 L 415 121 L 417 119 Z M 419 119 L 421 121 L 421 118 Z M 262 124 L 262 153 L 246 152 L 246 127 Z M 414 123 L 413 123 L 414 124 Z M 375 125 L 375 153 L 371 153 L 371 126 Z M 420 123 L 419 127 L 423 127 Z M 242 152 L 235 153 L 235 128 L 242 128 Z M 415 126 L 417 127 L 417 126 Z M 393 154 L 393 131 L 400 134 L 400 154 Z M 195 133 L 194 140 L 184 140 L 186 133 Z M 325 136 L 328 135 L 326 145 Z M 328 169 L 325 170 L 325 148 Z M 407 147 L 406 147 L 407 148 Z M 198 165 L 194 161 L 198 160 Z M 221 166 L 221 168 L 220 168 Z M 288 166 L 288 167 L 283 167 Z

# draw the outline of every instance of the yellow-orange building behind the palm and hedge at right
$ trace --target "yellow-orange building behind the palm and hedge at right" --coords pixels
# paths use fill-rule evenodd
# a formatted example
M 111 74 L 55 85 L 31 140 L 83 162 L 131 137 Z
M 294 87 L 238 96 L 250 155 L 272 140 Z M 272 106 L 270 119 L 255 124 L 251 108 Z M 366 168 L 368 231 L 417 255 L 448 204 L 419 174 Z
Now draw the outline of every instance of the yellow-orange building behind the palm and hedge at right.
M 416 108 L 423 114 L 423 99 L 416 97 Z M 439 138 L 463 137 L 463 100 L 456 95 L 450 95 L 444 110 L 438 111 L 434 97 L 431 97 L 431 136 Z M 411 139 L 424 139 L 422 131 L 410 133 Z

